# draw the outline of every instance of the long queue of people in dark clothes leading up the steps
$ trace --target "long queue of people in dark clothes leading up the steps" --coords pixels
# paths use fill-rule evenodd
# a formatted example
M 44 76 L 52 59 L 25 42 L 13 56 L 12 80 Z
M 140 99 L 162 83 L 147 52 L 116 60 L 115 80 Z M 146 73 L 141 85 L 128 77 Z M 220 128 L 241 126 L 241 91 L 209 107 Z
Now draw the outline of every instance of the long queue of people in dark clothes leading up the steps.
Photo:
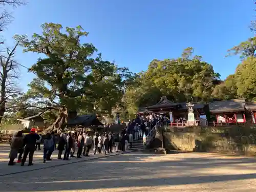
M 41 134 L 35 133 L 35 129 L 31 129 L 27 135 L 23 131 L 18 131 L 12 138 L 11 151 L 9 154 L 9 165 L 20 163 L 24 166 L 27 156 L 29 156 L 28 165 L 33 165 L 33 155 L 36 150 L 41 150 L 43 144 L 44 155 L 42 160 L 51 161 L 52 153 L 58 150 L 57 159 L 70 160 L 75 157 L 89 156 L 89 152 L 93 147 L 92 154 L 107 154 L 122 151 L 133 147 L 133 142 L 138 141 L 138 138 L 151 135 L 152 128 L 161 120 L 155 115 L 143 117 L 138 116 L 130 121 L 126 128 L 119 133 L 112 132 L 98 133 L 94 135 L 91 132 L 68 132 L 55 134 L 54 132 L 47 133 L 44 137 Z M 63 157 L 62 157 L 63 154 Z M 17 162 L 14 162 L 17 158 Z

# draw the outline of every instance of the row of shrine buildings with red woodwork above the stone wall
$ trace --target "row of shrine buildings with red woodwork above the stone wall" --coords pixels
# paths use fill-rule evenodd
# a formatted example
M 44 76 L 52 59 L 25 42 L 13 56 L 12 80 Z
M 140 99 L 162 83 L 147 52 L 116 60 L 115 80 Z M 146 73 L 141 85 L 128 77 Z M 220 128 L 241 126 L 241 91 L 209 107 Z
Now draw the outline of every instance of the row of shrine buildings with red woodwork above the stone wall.
M 178 125 L 179 119 L 188 119 L 188 106 L 193 108 L 195 121 L 200 123 L 200 118 L 207 112 L 215 117 L 215 124 L 235 124 L 246 123 L 250 114 L 250 122 L 256 124 L 256 102 L 246 102 L 245 99 L 233 99 L 224 101 L 213 101 L 209 103 L 175 103 L 169 101 L 166 97 L 161 97 L 160 101 L 152 106 L 140 108 L 139 114 L 163 114 L 169 117 L 172 124 Z M 247 119 L 246 119 L 247 117 Z M 213 120 L 212 120 L 213 121 Z M 212 122 L 210 122 L 212 123 Z M 186 124 L 184 124 L 186 126 Z

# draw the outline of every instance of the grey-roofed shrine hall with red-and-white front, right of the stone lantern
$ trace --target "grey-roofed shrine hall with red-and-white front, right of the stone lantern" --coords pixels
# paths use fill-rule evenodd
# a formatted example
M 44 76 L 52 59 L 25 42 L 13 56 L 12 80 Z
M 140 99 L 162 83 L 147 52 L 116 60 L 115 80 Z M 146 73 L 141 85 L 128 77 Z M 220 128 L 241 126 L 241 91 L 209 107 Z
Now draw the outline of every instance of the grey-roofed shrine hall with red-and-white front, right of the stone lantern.
M 245 123 L 245 99 L 214 101 L 209 103 L 210 113 L 217 123 Z

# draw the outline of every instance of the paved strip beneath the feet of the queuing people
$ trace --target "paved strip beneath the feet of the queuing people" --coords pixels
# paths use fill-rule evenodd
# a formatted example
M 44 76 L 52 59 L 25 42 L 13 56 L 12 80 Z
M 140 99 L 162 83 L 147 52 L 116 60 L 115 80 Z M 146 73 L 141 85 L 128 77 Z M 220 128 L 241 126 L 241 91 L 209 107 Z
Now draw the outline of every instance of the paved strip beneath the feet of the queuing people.
M 91 155 L 90 154 L 90 157 L 82 157 L 81 159 L 77 159 L 74 157 L 74 158 L 71 158 L 70 161 L 63 161 L 63 160 L 57 159 L 58 151 L 55 150 L 52 154 L 53 160 L 47 161 L 46 163 L 42 163 L 43 152 L 42 152 L 42 150 L 40 150 L 40 151 L 35 151 L 35 153 L 34 153 L 34 158 L 33 158 L 34 165 L 33 166 L 27 166 L 28 165 L 28 157 L 27 157 L 27 161 L 24 166 L 20 166 L 20 163 L 17 163 L 14 166 L 8 166 L 9 152 L 10 152 L 9 144 L 0 144 L 0 176 L 11 175 L 11 174 L 16 174 L 16 173 L 20 173 L 20 172 L 27 172 L 27 171 L 34 170 L 34 169 L 43 169 L 46 167 L 61 166 L 64 164 L 73 164 L 73 163 L 80 162 L 80 161 L 87 161 L 87 160 L 91 160 L 91 159 L 97 159 L 97 158 L 101 158 L 101 157 L 117 155 L 116 153 L 108 154 L 108 155 L 104 155 L 104 154 Z M 126 151 L 126 153 L 127 152 L 131 152 L 131 151 Z M 63 157 L 63 154 L 62 154 L 62 157 Z M 121 153 L 118 153 L 118 154 L 121 154 Z

